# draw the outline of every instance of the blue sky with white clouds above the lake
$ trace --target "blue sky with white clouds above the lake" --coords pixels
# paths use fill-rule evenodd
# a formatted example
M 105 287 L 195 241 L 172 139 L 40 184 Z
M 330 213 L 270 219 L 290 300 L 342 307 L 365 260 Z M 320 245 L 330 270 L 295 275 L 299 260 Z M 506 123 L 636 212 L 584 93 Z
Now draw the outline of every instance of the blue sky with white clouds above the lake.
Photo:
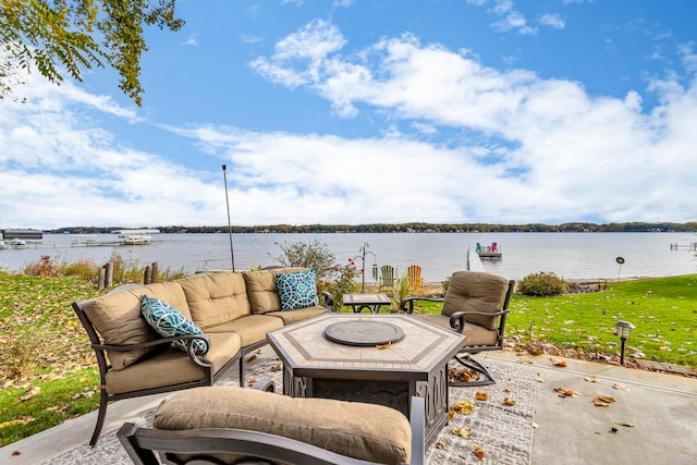
M 180 0 L 0 100 L 0 228 L 696 220 L 697 3 Z

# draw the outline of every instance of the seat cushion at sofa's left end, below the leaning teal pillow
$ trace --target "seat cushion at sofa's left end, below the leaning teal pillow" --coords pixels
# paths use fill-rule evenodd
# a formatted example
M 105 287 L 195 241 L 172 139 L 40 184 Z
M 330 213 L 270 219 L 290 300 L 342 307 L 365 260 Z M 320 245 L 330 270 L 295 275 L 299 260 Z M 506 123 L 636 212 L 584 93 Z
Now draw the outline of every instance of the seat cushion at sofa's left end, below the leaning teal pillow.
M 208 353 L 200 357 L 212 365 L 213 374 L 230 362 L 242 346 L 235 333 L 206 334 L 210 340 Z M 194 365 L 182 351 L 170 347 L 163 353 L 144 357 L 137 364 L 107 372 L 107 392 L 120 394 L 143 389 L 160 388 L 183 382 L 200 381 L 206 372 Z

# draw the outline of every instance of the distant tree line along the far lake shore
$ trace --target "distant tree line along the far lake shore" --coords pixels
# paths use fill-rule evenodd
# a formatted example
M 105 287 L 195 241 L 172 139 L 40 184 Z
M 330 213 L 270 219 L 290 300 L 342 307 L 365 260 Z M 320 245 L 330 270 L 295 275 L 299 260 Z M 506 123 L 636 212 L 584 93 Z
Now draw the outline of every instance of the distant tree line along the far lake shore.
M 227 233 L 228 227 L 144 227 L 162 233 Z M 124 227 L 59 228 L 47 233 L 99 234 Z M 231 228 L 233 233 L 462 233 L 462 232 L 697 232 L 697 222 L 688 223 L 608 223 L 571 222 L 562 224 L 489 224 L 489 223 L 372 223 L 372 224 L 272 224 Z

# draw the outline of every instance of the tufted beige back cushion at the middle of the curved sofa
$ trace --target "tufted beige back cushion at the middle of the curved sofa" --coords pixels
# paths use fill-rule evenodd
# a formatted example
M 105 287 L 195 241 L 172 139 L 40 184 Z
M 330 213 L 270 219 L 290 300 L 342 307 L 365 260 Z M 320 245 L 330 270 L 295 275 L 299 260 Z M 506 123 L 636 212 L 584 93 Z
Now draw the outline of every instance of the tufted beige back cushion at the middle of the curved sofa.
M 192 320 L 205 330 L 249 315 L 244 278 L 224 271 L 176 281 L 186 295 Z

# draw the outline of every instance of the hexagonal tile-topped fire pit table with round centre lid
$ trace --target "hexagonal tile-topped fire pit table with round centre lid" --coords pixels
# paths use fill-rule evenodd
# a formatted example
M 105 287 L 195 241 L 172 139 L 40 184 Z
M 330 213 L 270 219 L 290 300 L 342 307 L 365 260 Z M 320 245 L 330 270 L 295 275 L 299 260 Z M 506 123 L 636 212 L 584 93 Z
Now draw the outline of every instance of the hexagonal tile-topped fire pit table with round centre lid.
M 426 401 L 426 442 L 448 421 L 448 362 L 465 338 L 408 315 L 326 315 L 267 332 L 283 392 L 387 405 Z

